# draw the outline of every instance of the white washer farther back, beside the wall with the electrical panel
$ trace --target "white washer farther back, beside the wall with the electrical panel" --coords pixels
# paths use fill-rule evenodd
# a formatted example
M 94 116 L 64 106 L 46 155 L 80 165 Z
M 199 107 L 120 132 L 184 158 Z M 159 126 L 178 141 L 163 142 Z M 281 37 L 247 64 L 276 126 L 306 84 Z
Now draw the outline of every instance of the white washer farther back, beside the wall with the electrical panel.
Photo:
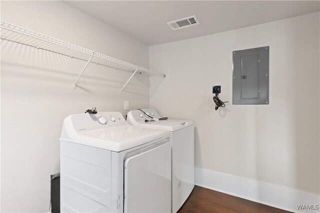
M 175 213 L 183 205 L 194 187 L 194 124 L 187 120 L 158 120 L 159 118 L 161 117 L 154 109 L 142 109 L 130 111 L 126 121 L 134 126 L 165 129 L 171 132 L 171 211 Z

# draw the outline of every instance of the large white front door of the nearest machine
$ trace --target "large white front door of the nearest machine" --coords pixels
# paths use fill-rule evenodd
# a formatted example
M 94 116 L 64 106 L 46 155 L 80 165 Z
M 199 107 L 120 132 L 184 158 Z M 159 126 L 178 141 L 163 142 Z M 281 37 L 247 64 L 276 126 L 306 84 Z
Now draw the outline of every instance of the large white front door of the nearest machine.
M 169 142 L 125 160 L 124 212 L 171 212 L 171 144 Z

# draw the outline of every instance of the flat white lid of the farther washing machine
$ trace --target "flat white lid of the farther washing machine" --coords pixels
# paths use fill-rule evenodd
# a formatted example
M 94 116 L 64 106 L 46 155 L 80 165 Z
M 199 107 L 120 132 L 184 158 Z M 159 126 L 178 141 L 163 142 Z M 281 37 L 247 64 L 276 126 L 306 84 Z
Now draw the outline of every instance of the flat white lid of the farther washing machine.
M 138 126 L 146 128 L 165 129 L 170 132 L 173 132 L 191 125 L 193 125 L 193 121 L 167 119 L 159 121 L 141 122 Z

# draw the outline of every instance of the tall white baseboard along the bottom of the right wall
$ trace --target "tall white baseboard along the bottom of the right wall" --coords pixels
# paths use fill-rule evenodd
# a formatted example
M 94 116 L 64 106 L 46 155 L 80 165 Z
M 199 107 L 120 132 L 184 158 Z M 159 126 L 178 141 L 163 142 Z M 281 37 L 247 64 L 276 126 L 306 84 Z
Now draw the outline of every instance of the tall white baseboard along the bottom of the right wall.
M 313 205 L 312 207 L 315 209 L 315 205 L 320 205 L 320 195 L 318 194 L 224 173 L 195 168 L 195 185 L 290 212 L 319 212 L 319 210 L 297 210 L 296 206 L 297 204 Z

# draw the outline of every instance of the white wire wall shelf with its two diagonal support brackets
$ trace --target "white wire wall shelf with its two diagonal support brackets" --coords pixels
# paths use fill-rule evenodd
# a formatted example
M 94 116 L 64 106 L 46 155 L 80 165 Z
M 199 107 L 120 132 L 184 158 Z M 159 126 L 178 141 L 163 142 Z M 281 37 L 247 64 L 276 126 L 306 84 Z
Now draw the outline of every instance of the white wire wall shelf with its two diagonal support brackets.
M 113 67 L 113 66 L 108 66 L 108 65 L 105 65 L 105 64 L 97 63 L 97 62 L 92 62 L 91 59 L 92 59 L 93 56 L 95 56 L 97 58 L 100 58 L 100 59 L 104 59 L 106 61 L 110 61 L 110 62 L 113 62 L 113 63 L 117 63 L 117 64 L 120 64 L 120 65 L 127 66 L 127 67 L 135 69 L 133 74 L 130 76 L 130 78 L 127 80 L 127 82 L 121 88 L 121 91 L 127 85 L 127 83 L 131 80 L 131 78 L 137 72 L 137 70 L 141 70 L 140 74 L 145 72 L 145 73 L 157 75 L 156 73 L 153 73 L 152 71 L 150 71 L 149 69 L 146 69 L 144 67 L 139 67 L 137 65 L 134 65 L 134 64 L 131 64 L 131 63 L 116 59 L 116 58 L 112 58 L 110 56 L 103 55 L 101 53 L 97 53 L 97 52 L 94 52 L 92 50 L 89 50 L 89 49 L 86 49 L 86 48 L 82 48 L 82 47 L 79 47 L 79 46 L 67 43 L 65 41 L 61 41 L 61 40 L 46 36 L 46 35 L 42 35 L 40 33 L 31 31 L 31 30 L 28 30 L 28 29 L 25 29 L 25 28 L 22 28 L 22 27 L 19 27 L 19 26 L 16 26 L 16 25 L 4 22 L 4 21 L 0 21 L 0 27 L 2 28 L 1 29 L 1 33 L 2 33 L 1 39 L 2 40 L 7 40 L 7 41 L 11 41 L 11 42 L 15 42 L 15 43 L 31 46 L 31 47 L 34 47 L 34 48 L 37 48 L 37 49 L 50 51 L 50 52 L 53 52 L 53 53 L 56 53 L 56 54 L 61 54 L 61 55 L 64 55 L 64 56 L 69 56 L 71 58 L 76 58 L 76 59 L 84 60 L 84 61 L 86 61 L 86 60 L 83 59 L 83 58 L 80 58 L 80 56 L 78 56 L 78 55 L 80 53 L 86 54 L 86 55 L 90 55 L 89 60 L 87 60 L 85 66 L 83 67 L 83 69 L 80 72 L 78 78 L 76 79 L 76 81 L 73 84 L 74 88 L 76 88 L 76 83 L 78 82 L 78 80 L 82 76 L 83 72 L 85 71 L 85 68 L 88 66 L 89 63 L 95 63 L 95 64 L 99 64 L 99 65 L 102 65 L 102 66 L 111 67 L 111 68 L 114 68 L 114 69 L 118 69 L 118 70 L 122 70 L 122 71 L 128 72 L 128 70 L 116 68 L 116 67 Z M 8 31 L 3 33 L 4 29 L 6 29 Z M 9 35 L 6 35 L 7 32 L 11 32 L 11 33 Z M 18 37 L 13 40 L 13 38 L 16 37 L 16 36 L 18 36 Z M 22 37 L 22 39 L 20 39 L 21 37 Z M 31 40 L 31 42 L 29 42 L 30 40 Z M 40 46 L 43 43 L 44 43 L 44 45 Z M 70 53 L 70 51 L 75 51 L 77 53 L 73 52 L 73 54 L 67 54 L 67 53 Z M 163 75 L 163 77 L 165 77 L 165 75 Z

